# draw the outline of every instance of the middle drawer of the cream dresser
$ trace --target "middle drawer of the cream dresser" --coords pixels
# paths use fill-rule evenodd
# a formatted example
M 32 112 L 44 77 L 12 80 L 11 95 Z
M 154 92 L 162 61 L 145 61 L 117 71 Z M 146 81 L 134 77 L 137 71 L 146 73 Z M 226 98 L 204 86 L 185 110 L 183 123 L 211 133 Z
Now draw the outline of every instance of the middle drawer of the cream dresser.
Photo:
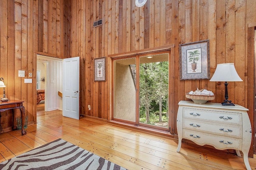
M 183 129 L 242 139 L 242 126 L 183 119 Z

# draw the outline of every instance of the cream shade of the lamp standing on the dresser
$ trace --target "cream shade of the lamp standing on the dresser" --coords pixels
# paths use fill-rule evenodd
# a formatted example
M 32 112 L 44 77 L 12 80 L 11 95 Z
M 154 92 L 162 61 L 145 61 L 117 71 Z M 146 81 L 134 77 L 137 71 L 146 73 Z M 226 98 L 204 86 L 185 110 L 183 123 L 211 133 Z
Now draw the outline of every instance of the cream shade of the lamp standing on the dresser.
M 234 63 L 218 64 L 210 82 L 242 82 Z

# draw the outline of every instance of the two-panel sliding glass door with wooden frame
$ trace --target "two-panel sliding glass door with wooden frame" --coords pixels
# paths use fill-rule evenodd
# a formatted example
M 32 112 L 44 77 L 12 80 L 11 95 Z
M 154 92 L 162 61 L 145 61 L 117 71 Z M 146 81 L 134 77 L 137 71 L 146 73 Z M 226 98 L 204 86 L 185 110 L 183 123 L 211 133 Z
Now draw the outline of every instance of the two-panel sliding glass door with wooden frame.
M 170 129 L 169 53 L 114 60 L 113 119 Z

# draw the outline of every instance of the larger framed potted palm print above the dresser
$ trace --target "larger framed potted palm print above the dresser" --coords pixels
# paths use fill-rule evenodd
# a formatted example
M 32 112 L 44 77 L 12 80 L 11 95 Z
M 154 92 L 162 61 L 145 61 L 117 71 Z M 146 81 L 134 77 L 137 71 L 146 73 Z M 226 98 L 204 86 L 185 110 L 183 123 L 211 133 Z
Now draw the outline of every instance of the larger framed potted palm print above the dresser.
M 210 78 L 209 40 L 180 44 L 180 80 Z

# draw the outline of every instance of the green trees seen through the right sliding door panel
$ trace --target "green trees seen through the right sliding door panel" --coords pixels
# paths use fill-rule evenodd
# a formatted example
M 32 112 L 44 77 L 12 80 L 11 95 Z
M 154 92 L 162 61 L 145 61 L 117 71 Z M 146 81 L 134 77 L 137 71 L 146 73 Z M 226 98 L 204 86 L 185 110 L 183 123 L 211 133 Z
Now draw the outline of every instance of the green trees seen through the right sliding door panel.
M 167 127 L 168 80 L 167 61 L 140 64 L 141 123 Z

